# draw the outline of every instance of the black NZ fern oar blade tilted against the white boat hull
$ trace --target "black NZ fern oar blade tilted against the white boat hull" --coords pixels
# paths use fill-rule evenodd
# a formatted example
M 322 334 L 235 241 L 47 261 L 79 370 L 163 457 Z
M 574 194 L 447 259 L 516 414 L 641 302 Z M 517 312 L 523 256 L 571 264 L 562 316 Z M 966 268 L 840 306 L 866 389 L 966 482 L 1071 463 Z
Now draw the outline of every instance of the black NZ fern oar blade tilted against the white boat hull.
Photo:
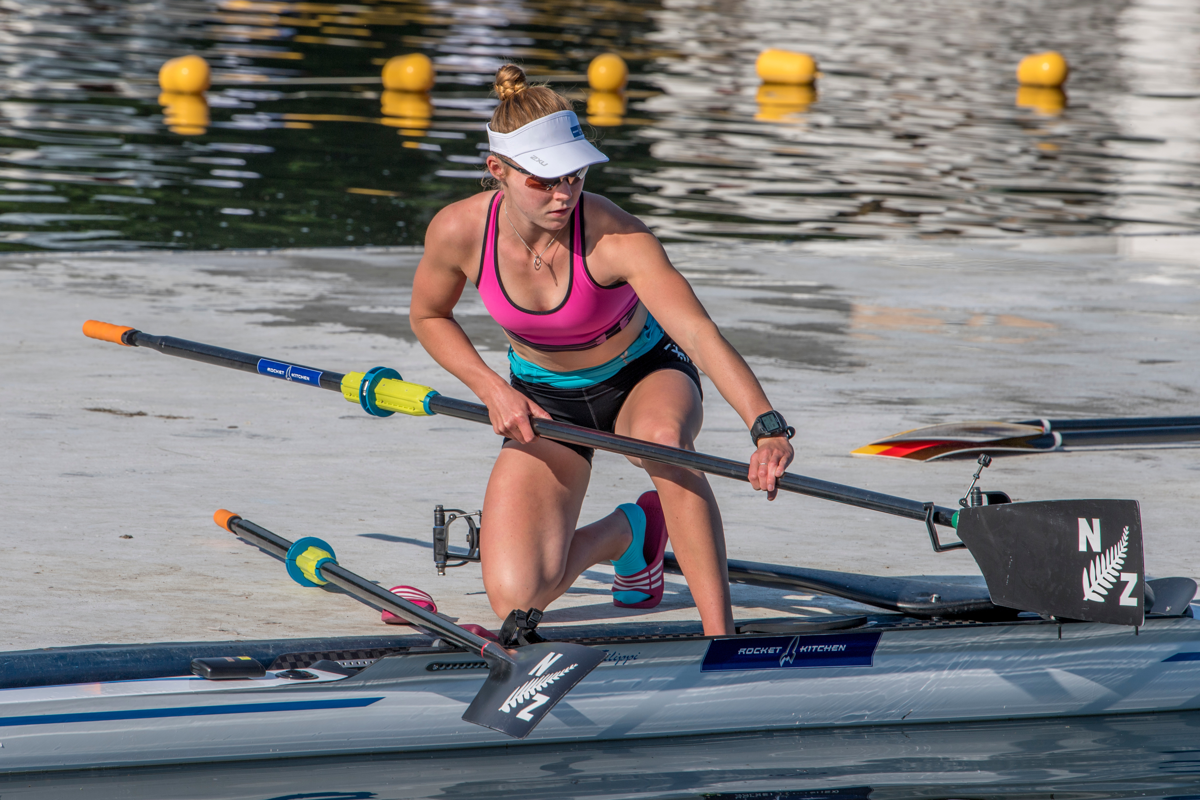
M 605 651 L 544 642 L 520 648 L 515 656 L 516 666 L 491 662 L 491 674 L 462 718 L 524 739 L 564 694 L 604 661 Z

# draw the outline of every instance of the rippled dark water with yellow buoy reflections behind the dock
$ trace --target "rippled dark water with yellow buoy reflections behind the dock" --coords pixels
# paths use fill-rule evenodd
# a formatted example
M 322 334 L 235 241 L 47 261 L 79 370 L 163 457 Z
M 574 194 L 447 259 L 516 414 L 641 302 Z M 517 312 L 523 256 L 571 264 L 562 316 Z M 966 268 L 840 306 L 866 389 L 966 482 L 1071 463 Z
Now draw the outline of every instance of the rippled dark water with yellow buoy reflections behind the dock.
M 612 157 L 589 188 L 664 237 L 1200 225 L 1187 0 L 4 7 L 6 248 L 416 243 L 478 191 L 486 89 L 510 59 L 574 92 Z M 761 85 L 767 47 L 811 53 L 817 84 Z M 1069 94 L 1018 91 L 1016 61 L 1049 47 Z M 214 66 L 206 97 L 160 95 L 158 66 L 185 52 Z M 437 64 L 434 90 L 380 91 L 382 64 L 410 52 Z M 604 52 L 629 61 L 624 92 L 583 88 Z M 70 215 L 8 216 L 49 204 Z

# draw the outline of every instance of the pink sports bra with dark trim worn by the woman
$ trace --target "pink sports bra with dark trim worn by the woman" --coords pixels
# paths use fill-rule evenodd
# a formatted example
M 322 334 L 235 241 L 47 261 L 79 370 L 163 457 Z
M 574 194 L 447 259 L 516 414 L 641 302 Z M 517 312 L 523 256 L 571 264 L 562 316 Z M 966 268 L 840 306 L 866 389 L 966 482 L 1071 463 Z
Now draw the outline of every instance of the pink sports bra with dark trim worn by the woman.
M 619 333 L 637 311 L 637 294 L 622 281 L 602 287 L 588 272 L 583 258 L 583 198 L 571 213 L 568 242 L 571 273 L 566 296 L 557 308 L 529 311 L 512 302 L 500 279 L 497 259 L 499 211 L 503 192 L 492 196 L 479 259 L 479 294 L 484 306 L 515 342 L 545 353 L 589 350 Z

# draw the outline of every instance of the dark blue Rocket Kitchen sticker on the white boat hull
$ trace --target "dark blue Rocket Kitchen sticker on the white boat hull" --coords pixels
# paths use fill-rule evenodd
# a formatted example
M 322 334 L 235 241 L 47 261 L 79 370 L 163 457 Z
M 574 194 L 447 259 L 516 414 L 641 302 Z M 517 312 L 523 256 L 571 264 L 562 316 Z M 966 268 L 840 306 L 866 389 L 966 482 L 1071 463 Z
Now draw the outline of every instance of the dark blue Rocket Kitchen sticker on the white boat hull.
M 878 632 L 713 639 L 702 672 L 870 667 Z

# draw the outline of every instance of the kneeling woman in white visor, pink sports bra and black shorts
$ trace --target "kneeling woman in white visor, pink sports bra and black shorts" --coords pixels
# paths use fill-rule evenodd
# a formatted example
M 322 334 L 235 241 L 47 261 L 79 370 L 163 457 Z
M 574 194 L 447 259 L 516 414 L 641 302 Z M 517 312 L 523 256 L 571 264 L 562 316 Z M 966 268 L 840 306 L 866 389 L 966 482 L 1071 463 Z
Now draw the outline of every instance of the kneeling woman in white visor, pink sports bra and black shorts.
M 750 485 L 768 500 L 792 461 L 792 432 L 659 240 L 583 191 L 588 167 L 608 158 L 584 138 L 570 101 L 514 65 L 496 73 L 496 94 L 486 163 L 498 191 L 452 203 L 430 223 L 410 324 L 505 437 L 480 542 L 487 599 L 508 616 L 502 640 L 541 640 L 540 609 L 604 561 L 616 569 L 614 604 L 656 606 L 667 531 L 704 633 L 732 633 L 725 534 L 704 475 L 631 458 L 656 492 L 576 528 L 593 450 L 539 438 L 529 417 L 694 450 L 700 367 L 750 428 Z M 454 319 L 468 281 L 508 335 L 510 380 Z

